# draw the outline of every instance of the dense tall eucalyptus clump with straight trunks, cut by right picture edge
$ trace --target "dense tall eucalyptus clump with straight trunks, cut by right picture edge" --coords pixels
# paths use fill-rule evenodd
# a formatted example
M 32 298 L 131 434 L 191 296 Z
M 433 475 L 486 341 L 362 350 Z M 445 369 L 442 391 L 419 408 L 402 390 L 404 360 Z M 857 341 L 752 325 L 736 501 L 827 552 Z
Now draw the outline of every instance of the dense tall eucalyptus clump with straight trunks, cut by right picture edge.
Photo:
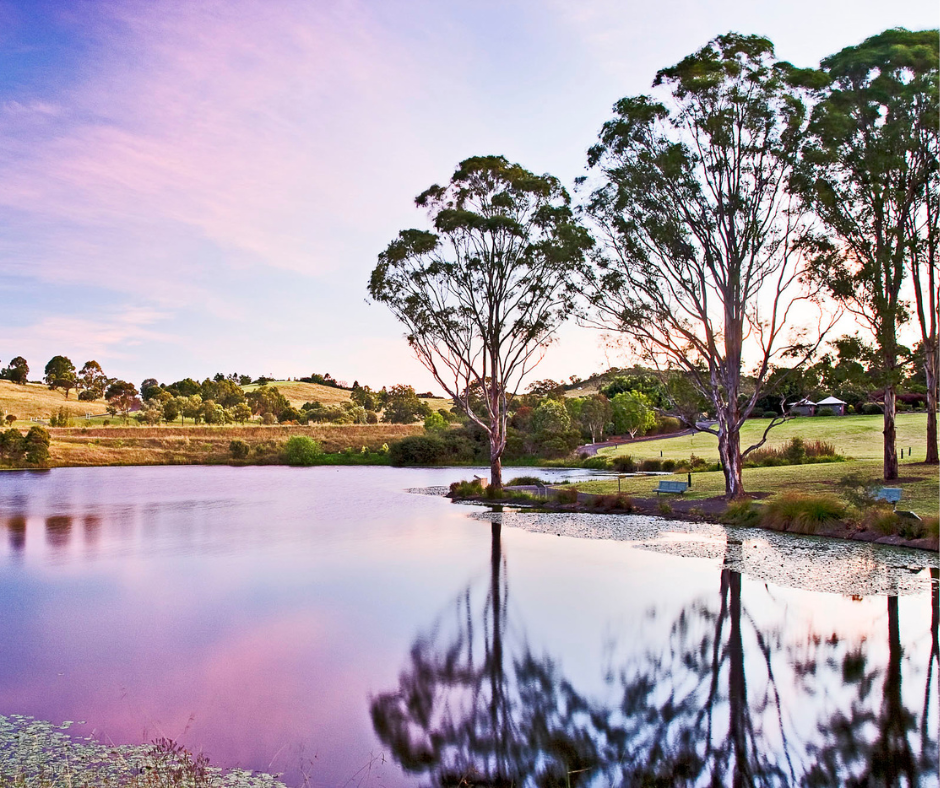
M 817 280 L 876 340 L 885 480 L 898 477 L 898 328 L 910 319 L 909 272 L 932 390 L 928 455 L 937 461 L 937 61 L 936 30 L 887 30 L 804 75 L 817 103 L 794 184 L 823 225 L 808 239 Z

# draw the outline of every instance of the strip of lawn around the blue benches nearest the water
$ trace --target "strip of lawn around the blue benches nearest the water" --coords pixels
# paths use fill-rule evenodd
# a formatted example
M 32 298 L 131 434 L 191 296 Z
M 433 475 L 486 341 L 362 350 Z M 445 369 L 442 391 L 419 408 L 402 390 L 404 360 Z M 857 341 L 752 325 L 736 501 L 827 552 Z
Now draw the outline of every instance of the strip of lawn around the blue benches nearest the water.
M 679 439 L 681 440 L 681 438 Z M 839 493 L 838 482 L 849 473 L 859 473 L 871 484 L 881 485 L 881 461 L 857 460 L 820 465 L 787 465 L 777 468 L 745 468 L 744 489 L 751 493 Z M 901 462 L 901 481 L 892 482 L 891 487 L 900 487 L 904 493 L 900 509 L 917 512 L 921 517 L 937 516 L 940 506 L 938 496 L 937 466 L 928 466 L 915 460 Z M 660 479 L 686 479 L 684 473 L 675 476 L 633 476 L 621 480 L 621 489 L 634 498 L 655 497 L 653 490 Z M 610 494 L 617 492 L 617 480 L 579 483 L 582 492 Z M 692 488 L 686 498 L 714 498 L 724 495 L 725 480 L 720 471 L 693 473 Z

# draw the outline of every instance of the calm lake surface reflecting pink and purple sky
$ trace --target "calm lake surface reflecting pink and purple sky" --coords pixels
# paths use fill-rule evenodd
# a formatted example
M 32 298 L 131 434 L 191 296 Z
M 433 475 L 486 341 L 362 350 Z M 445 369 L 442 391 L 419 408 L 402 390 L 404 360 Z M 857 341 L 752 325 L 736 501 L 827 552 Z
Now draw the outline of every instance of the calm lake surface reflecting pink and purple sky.
M 292 786 L 938 784 L 935 554 L 414 491 L 467 476 L 0 474 L 0 714 Z

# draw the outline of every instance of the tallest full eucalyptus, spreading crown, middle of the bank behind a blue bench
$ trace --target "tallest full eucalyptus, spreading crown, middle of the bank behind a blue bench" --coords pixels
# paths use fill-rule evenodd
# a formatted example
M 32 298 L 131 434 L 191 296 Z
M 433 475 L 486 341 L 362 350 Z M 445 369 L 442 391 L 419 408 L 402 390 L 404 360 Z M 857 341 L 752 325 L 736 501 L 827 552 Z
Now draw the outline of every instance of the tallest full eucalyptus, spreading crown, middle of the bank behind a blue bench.
M 743 456 L 780 422 L 742 452 L 741 426 L 780 383 L 772 367 L 805 361 L 834 322 L 804 310 L 811 327 L 792 327 L 812 293 L 787 190 L 807 114 L 791 70 L 766 38 L 719 36 L 656 75 L 662 100 L 617 102 L 588 155 L 599 182 L 586 210 L 605 241 L 586 282 L 592 320 L 707 401 L 714 426 L 674 410 L 717 436 L 729 498 L 744 493 Z

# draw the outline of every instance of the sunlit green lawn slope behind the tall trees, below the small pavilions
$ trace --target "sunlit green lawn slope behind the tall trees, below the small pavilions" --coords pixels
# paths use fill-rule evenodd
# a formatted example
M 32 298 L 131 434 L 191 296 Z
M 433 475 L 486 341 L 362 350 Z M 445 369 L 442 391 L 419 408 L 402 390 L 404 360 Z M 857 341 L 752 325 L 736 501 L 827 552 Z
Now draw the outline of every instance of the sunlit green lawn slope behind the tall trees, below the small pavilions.
M 746 449 L 760 440 L 770 423 L 769 419 L 749 419 L 741 429 L 741 448 Z M 774 427 L 765 446 L 779 446 L 790 438 L 799 436 L 804 440 L 821 440 L 833 443 L 836 451 L 845 457 L 856 460 L 880 460 L 882 456 L 881 430 L 884 428 L 882 416 L 833 416 L 830 418 L 796 418 L 779 427 Z M 899 413 L 897 418 L 898 446 L 905 450 L 912 447 L 914 461 L 923 462 L 926 447 L 924 437 L 927 432 L 926 413 Z M 707 460 L 718 459 L 718 439 L 707 433 L 685 435 L 678 438 L 643 441 L 642 443 L 615 446 L 598 452 L 608 457 L 629 454 L 637 460 L 658 458 L 688 459 L 691 454 Z

